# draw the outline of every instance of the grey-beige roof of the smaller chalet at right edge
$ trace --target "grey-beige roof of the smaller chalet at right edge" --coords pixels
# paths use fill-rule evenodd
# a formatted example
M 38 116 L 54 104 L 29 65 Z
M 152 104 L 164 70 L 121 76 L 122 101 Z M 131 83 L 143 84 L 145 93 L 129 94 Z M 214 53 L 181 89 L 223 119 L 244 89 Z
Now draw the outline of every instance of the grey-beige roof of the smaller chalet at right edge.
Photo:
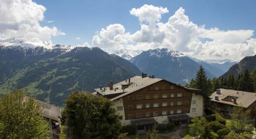
M 230 97 L 228 97 L 230 96 Z M 215 97 L 218 97 L 216 100 Z M 225 103 L 229 105 L 239 105 L 242 103 L 242 107 L 249 107 L 253 102 L 256 101 L 256 93 L 252 92 L 244 92 L 244 91 L 237 91 L 237 90 L 228 90 L 228 89 L 220 89 L 220 93 L 214 92 L 211 94 L 211 101 Z M 230 98 L 228 100 L 227 98 Z M 236 99 L 236 103 L 234 103 L 234 99 Z

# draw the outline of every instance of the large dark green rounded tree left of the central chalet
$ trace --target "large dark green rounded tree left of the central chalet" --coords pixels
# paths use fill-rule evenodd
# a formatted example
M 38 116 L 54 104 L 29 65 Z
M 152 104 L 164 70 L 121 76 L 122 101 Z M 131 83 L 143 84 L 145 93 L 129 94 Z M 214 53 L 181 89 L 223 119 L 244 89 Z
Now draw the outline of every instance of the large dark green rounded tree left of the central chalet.
M 111 100 L 75 91 L 66 100 L 69 137 L 74 139 L 117 139 L 121 122 Z

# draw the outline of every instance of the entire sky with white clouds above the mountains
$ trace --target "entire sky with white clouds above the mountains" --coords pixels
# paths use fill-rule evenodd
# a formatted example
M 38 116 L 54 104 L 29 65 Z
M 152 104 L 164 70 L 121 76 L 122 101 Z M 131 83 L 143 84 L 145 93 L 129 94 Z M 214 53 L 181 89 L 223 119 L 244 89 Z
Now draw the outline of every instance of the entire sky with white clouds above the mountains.
M 199 59 L 256 54 L 255 0 L 0 0 L 0 39 L 101 49 L 166 47 Z

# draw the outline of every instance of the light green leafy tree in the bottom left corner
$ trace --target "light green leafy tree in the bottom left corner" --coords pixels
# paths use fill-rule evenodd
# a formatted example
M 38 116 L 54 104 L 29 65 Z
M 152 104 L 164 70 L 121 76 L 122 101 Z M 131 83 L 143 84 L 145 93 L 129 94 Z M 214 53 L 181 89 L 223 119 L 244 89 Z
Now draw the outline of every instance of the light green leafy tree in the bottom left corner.
M 49 139 L 49 124 L 41 114 L 40 103 L 32 97 L 22 90 L 10 92 L 0 98 L 0 138 Z

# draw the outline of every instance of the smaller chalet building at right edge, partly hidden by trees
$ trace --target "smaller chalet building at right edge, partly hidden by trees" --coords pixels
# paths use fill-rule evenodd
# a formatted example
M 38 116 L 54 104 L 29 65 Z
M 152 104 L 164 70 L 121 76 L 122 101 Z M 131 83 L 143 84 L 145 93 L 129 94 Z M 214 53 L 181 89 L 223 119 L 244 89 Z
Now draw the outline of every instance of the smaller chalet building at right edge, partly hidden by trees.
M 247 120 L 254 119 L 256 108 L 256 93 L 244 92 L 228 89 L 217 89 L 211 95 L 211 108 L 223 111 L 225 116 L 229 116 L 234 106 L 242 104 L 244 111 L 248 111 Z

